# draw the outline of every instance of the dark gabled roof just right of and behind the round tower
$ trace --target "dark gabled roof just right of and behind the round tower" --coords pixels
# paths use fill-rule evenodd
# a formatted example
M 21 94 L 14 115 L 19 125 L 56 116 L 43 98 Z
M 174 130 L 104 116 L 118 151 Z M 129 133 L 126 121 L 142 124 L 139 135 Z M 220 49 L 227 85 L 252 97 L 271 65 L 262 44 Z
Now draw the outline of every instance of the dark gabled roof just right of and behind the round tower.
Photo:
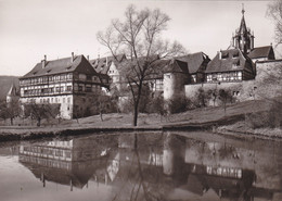
M 197 73 L 203 64 L 206 65 L 210 61 L 210 59 L 203 52 L 182 55 L 176 59 L 188 63 L 190 74 Z

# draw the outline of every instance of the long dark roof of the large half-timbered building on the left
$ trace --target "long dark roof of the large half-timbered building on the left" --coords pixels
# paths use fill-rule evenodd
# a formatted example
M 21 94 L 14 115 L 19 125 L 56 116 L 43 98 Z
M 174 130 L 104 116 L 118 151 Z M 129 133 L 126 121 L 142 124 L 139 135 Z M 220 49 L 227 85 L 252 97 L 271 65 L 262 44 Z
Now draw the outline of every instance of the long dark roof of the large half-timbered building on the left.
M 85 67 L 84 67 L 85 66 Z M 42 67 L 42 62 L 37 63 L 36 66 L 21 78 L 38 77 L 43 75 L 54 75 L 69 72 L 82 72 L 86 74 L 97 74 L 90 63 L 84 55 L 77 55 L 72 62 L 72 58 L 64 58 L 53 61 L 46 61 L 46 66 Z

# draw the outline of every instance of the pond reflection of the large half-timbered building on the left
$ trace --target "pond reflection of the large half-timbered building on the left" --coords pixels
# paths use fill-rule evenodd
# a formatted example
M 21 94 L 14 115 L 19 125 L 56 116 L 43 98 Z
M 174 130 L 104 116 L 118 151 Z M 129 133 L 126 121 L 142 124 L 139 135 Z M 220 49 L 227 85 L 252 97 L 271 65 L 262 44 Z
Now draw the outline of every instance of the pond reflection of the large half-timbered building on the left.
M 18 159 L 43 186 L 48 180 L 69 185 L 72 190 L 73 186 L 82 188 L 97 168 L 105 166 L 105 156 L 115 145 L 114 139 L 99 137 L 23 143 Z

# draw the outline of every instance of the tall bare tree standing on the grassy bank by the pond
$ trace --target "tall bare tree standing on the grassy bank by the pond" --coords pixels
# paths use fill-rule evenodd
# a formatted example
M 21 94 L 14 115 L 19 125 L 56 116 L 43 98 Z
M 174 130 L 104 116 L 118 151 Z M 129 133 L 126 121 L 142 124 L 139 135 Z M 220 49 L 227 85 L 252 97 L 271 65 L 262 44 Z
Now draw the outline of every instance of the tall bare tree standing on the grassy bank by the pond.
M 162 39 L 162 33 L 169 22 L 167 14 L 158 9 L 138 11 L 129 5 L 125 12 L 125 21 L 113 20 L 111 26 L 97 34 L 98 40 L 104 45 L 114 58 L 125 53 L 130 59 L 123 62 L 123 75 L 129 85 L 133 100 L 133 126 L 137 126 L 138 111 L 144 79 L 157 71 L 157 60 L 184 53 L 178 42 Z M 121 64 L 120 64 L 121 65 Z

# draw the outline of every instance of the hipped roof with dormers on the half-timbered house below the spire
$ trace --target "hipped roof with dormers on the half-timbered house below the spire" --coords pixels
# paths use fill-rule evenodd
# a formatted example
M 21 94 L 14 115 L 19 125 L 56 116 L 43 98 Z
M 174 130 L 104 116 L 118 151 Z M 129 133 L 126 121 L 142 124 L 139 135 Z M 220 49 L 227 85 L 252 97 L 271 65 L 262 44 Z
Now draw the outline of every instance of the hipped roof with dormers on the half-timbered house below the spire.
M 221 50 L 221 56 L 222 59 L 219 59 L 218 52 L 207 64 L 205 73 L 241 71 L 248 65 L 252 66 L 252 60 L 244 55 L 240 49 Z

